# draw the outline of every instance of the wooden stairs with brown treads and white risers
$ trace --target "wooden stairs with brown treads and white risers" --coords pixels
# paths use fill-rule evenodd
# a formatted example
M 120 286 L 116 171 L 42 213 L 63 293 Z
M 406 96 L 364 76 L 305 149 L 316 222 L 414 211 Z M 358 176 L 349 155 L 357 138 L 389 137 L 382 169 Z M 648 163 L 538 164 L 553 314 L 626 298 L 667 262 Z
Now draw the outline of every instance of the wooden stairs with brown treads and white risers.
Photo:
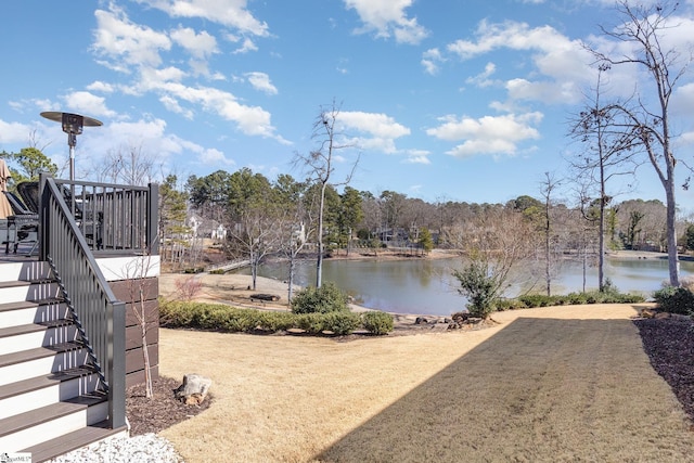
M 0 275 L 0 454 L 36 463 L 127 433 L 108 428 L 103 383 L 48 265 L 17 268 L 17 280 Z

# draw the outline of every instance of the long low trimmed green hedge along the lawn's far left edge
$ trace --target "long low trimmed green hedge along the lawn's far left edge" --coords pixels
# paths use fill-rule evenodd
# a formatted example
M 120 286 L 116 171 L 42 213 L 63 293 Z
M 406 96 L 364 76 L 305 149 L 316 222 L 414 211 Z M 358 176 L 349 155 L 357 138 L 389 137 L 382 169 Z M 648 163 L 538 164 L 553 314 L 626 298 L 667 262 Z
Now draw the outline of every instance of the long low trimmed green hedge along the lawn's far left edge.
M 351 311 L 326 313 L 291 313 L 257 309 L 241 309 L 219 304 L 160 301 L 159 321 L 165 327 L 190 327 L 234 333 L 283 332 L 305 330 L 310 334 L 332 332 L 344 335 L 360 327 L 373 334 L 393 331 L 393 316 L 385 312 L 364 318 Z M 388 324 L 389 320 L 389 324 Z

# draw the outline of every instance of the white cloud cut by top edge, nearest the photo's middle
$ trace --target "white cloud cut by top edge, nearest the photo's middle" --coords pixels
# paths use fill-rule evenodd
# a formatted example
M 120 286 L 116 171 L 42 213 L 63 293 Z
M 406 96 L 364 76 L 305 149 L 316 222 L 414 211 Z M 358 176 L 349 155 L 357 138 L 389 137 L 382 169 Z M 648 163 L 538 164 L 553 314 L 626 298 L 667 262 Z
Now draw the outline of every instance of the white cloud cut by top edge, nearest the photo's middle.
M 348 10 L 357 11 L 363 27 L 361 33 L 375 33 L 377 38 L 395 37 L 398 43 L 420 43 L 428 31 L 409 18 L 404 12 L 412 0 L 345 0 Z

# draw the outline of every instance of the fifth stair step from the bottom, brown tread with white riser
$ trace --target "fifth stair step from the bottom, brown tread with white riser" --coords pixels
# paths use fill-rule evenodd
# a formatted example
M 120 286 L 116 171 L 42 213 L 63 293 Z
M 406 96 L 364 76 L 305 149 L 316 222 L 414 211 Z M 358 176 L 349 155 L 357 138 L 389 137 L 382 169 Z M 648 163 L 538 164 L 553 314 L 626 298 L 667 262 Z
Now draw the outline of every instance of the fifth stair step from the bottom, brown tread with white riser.
M 77 326 L 70 320 L 51 320 L 41 323 L 0 329 L 0 352 L 11 353 L 35 347 L 47 347 L 77 339 Z

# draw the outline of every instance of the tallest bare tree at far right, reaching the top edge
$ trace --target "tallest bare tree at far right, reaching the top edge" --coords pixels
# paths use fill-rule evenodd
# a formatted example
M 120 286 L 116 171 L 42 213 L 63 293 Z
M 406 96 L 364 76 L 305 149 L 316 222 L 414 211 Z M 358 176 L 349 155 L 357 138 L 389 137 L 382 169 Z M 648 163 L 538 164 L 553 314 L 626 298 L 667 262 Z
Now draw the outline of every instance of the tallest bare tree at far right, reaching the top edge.
M 632 111 L 625 107 L 622 110 L 631 120 L 631 125 L 665 190 L 668 269 L 672 286 L 679 286 L 680 282 L 674 195 L 674 167 L 678 159 L 672 151 L 670 98 L 686 74 L 693 59 L 691 47 L 686 50 L 686 55 L 682 56 L 680 48 L 668 46 L 669 42 L 664 40 L 668 30 L 677 26 L 673 22 L 678 4 L 666 1 L 654 3 L 651 7 L 632 7 L 627 0 L 618 0 L 617 11 L 624 18 L 624 23 L 616 28 L 602 27 L 602 33 L 604 36 L 617 40 L 625 48 L 631 48 L 631 50 L 616 51 L 613 55 L 608 55 L 596 49 L 588 48 L 601 63 L 611 66 L 637 66 L 650 76 L 650 83 L 653 86 L 652 93 L 639 91 L 638 108 Z M 652 98 L 654 94 L 655 99 Z M 687 182 L 685 182 L 686 184 Z

